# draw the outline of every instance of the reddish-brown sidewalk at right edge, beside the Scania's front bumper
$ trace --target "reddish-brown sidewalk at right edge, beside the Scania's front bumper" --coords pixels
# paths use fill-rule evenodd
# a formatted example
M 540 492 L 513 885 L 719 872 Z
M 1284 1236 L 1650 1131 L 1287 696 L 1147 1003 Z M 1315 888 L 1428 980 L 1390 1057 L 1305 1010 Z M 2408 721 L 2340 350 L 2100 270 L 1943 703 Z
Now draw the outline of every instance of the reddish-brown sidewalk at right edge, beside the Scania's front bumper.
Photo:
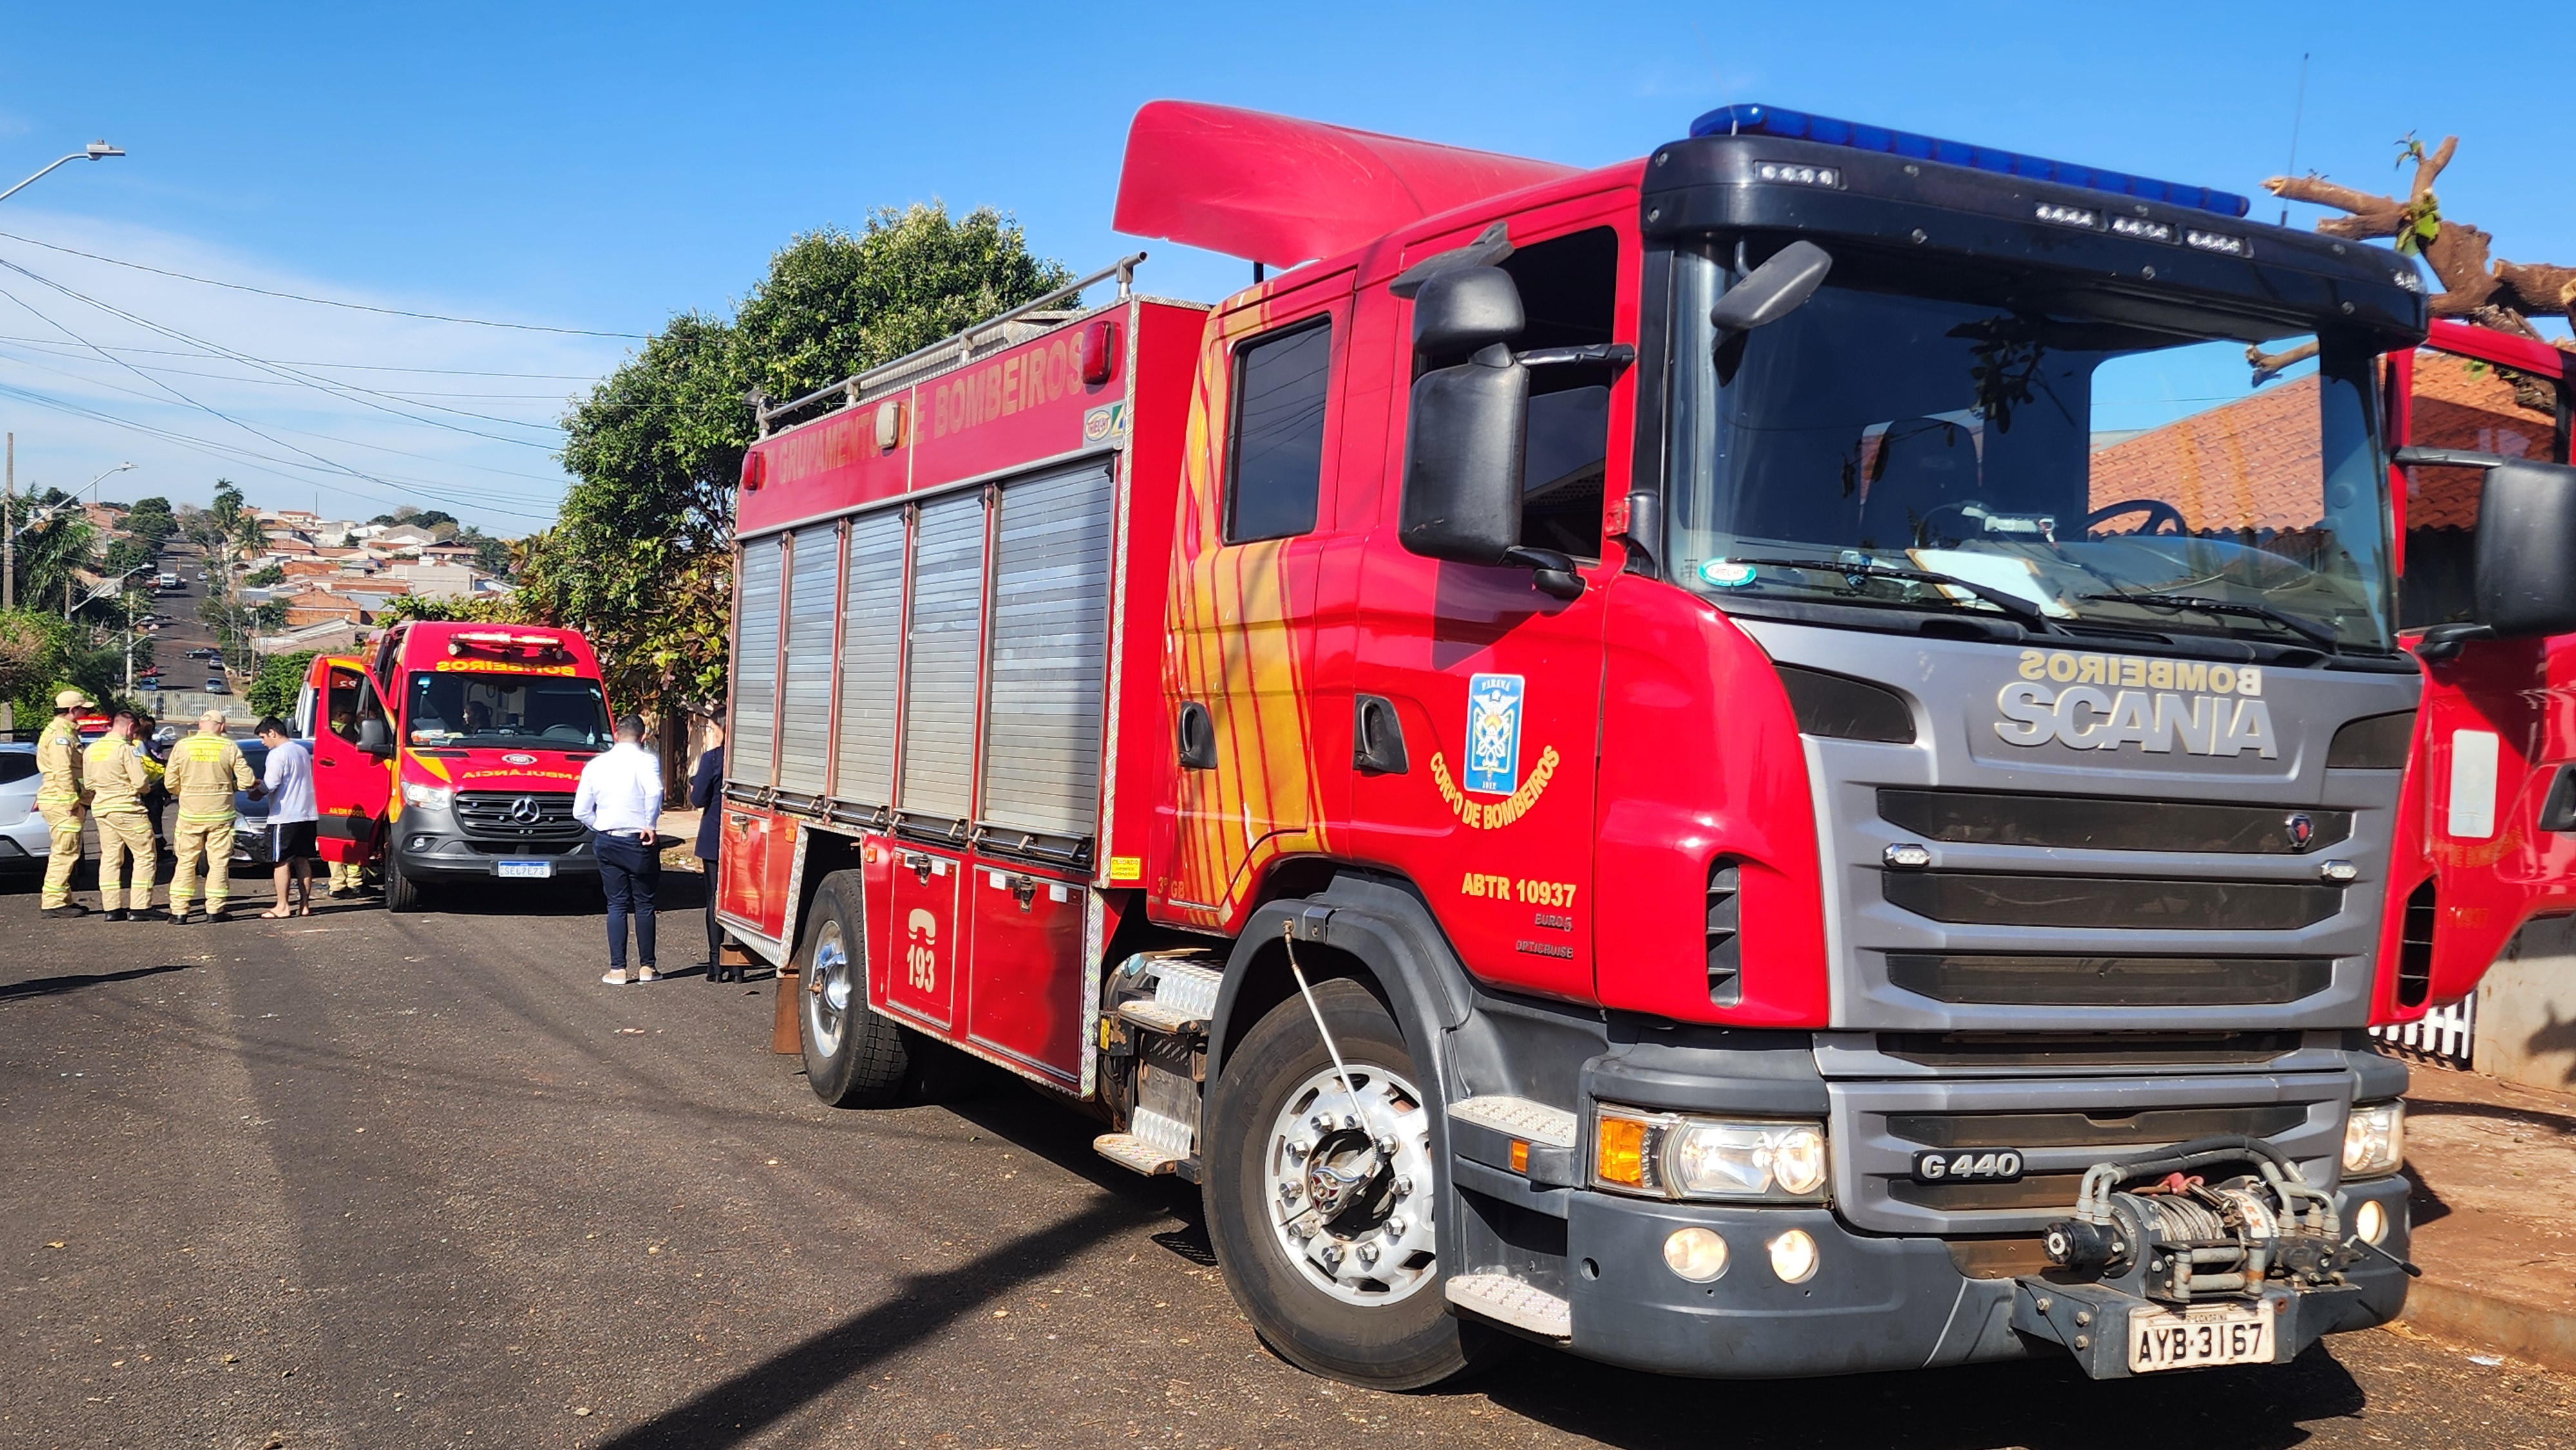
M 2576 1095 L 2409 1066 L 2403 1324 L 2576 1370 Z

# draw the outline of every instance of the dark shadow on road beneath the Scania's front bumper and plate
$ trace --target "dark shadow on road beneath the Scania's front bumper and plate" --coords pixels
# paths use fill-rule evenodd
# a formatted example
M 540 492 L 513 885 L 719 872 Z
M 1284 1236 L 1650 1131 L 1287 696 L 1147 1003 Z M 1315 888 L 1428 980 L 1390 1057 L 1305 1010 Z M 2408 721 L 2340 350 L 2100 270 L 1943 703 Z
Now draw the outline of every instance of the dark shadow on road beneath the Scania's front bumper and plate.
M 1440 1393 L 1440 1391 L 1435 1391 Z M 2287 1450 L 2303 1422 L 2360 1414 L 2362 1386 L 2324 1347 L 2290 1365 L 2087 1380 L 2066 1357 L 1834 1380 L 1710 1386 L 1528 1352 L 1461 1386 L 1512 1414 L 1620 1450 L 2099 1450 L 2154 1427 L 2166 1445 Z

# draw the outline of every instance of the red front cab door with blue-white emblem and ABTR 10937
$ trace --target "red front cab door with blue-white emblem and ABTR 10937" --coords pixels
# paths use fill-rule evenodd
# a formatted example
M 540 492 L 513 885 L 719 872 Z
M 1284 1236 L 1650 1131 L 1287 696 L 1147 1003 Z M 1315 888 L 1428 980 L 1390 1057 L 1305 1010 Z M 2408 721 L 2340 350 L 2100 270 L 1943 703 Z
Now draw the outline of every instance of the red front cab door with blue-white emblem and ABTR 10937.
M 1499 265 L 1528 314 L 1515 350 L 1636 343 L 1638 278 L 1623 260 L 1636 247 L 1620 245 L 1633 211 L 1592 201 L 1510 219 L 1515 252 Z M 1481 229 L 1409 247 L 1404 263 Z M 1633 368 L 1530 371 L 1520 541 L 1571 556 L 1584 582 L 1551 598 L 1530 569 L 1422 559 L 1399 541 L 1409 384 L 1463 358 L 1414 358 L 1412 306 L 1383 312 L 1373 343 L 1394 366 L 1391 422 L 1352 662 L 1378 757 L 1350 765 L 1350 855 L 1412 878 L 1484 981 L 1592 999 L 1602 621 L 1618 577 L 1605 500 L 1628 489 L 1625 448 L 1610 440 L 1628 430 Z

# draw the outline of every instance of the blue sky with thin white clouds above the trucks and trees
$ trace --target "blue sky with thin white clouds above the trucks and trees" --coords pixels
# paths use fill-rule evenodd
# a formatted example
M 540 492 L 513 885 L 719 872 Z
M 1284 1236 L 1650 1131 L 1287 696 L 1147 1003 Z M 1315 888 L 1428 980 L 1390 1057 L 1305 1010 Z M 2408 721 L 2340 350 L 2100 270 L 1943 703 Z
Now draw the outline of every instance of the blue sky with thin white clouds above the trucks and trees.
M 2458 131 L 2445 211 L 2504 258 L 2576 263 L 2561 100 L 2576 10 L 2548 5 L 2517 13 L 2504 44 L 2419 5 L 2241 0 L 100 15 L 13 13 L 0 185 L 93 137 L 131 155 L 0 201 L 0 232 L 595 332 L 726 309 L 793 232 L 907 201 L 1010 209 L 1041 252 L 1090 270 L 1136 245 L 1108 227 L 1118 152 L 1136 106 L 1164 95 L 1595 165 L 1718 100 L 1772 100 L 2251 193 L 2290 160 L 2303 52 L 2300 170 L 2393 191 L 2401 134 Z M 2293 209 L 2293 224 L 2316 216 Z M 1146 250 L 1159 294 L 1213 299 L 1249 276 Z M 0 260 L 41 278 L 0 270 L 21 487 L 134 458 L 108 497 L 201 502 L 229 474 L 255 502 L 443 505 L 518 533 L 562 494 L 562 399 L 634 345 L 309 306 L 8 237 Z

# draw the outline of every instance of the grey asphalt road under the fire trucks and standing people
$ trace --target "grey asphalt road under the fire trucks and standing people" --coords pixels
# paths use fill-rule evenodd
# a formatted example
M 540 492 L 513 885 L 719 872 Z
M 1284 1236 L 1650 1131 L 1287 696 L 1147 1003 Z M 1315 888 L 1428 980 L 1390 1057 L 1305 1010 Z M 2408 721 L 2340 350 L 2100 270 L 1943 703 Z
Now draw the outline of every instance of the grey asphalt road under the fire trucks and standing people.
M 580 907 L 33 907 L 0 894 L 8 1447 L 2576 1442 L 2576 1380 L 2391 1332 L 2112 1386 L 1533 1350 L 1352 1391 L 1262 1350 L 1195 1198 L 1095 1159 L 1084 1118 L 956 1069 L 824 1110 L 765 1051 L 765 981 L 600 986 Z M 670 927 L 690 961 L 696 914 Z

